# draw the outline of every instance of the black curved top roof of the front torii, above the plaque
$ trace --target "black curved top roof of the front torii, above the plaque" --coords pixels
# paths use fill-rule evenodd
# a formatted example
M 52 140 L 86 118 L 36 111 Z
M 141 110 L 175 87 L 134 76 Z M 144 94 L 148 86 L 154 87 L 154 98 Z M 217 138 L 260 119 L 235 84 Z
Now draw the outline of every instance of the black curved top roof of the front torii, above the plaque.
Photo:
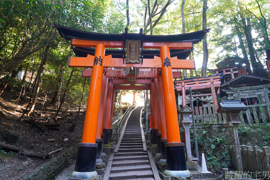
M 199 43 L 204 35 L 210 31 L 209 29 L 200 30 L 196 32 L 186 34 L 175 34 L 175 35 L 145 35 L 136 33 L 127 34 L 102 34 L 94 32 L 86 32 L 81 30 L 71 29 L 58 24 L 53 24 L 52 27 L 56 28 L 62 38 L 65 40 L 83 39 L 83 40 L 109 40 L 109 41 L 123 41 L 125 39 L 141 39 L 143 37 L 144 42 L 193 42 L 194 44 Z

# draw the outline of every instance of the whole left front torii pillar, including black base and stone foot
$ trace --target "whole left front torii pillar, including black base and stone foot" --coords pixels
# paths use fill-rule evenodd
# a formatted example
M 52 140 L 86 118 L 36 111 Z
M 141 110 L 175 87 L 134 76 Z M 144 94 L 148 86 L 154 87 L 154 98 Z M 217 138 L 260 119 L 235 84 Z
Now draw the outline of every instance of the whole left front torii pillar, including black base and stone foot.
M 105 55 L 104 44 L 97 44 L 95 57 L 102 62 Z M 102 84 L 103 65 L 93 64 L 93 74 L 91 78 L 89 96 L 86 107 L 85 122 L 83 126 L 82 142 L 79 144 L 75 169 L 70 179 L 92 179 L 97 177 L 97 122 L 100 102 L 100 92 Z

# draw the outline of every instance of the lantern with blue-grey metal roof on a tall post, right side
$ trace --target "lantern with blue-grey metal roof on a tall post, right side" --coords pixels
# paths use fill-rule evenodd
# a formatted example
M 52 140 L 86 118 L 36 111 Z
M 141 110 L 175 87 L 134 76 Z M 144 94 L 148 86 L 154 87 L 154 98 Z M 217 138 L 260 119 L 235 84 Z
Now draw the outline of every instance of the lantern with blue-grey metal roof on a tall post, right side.
M 243 171 L 242 156 L 240 151 L 240 144 L 238 138 L 238 126 L 243 126 L 242 122 L 239 121 L 239 113 L 243 110 L 248 109 L 244 103 L 239 100 L 226 100 L 222 101 L 218 106 L 218 113 L 226 113 L 228 117 L 228 123 L 224 124 L 224 127 L 231 127 L 233 134 L 233 143 L 235 150 L 235 159 L 237 171 Z

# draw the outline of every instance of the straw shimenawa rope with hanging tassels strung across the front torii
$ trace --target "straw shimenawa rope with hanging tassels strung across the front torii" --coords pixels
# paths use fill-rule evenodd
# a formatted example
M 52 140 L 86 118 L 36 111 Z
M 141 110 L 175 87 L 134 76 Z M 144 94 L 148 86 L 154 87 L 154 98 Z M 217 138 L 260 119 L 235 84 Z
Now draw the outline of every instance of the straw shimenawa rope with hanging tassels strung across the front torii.
M 165 60 L 165 62 L 161 63 L 161 64 L 165 64 L 168 60 Z M 103 66 L 107 66 L 105 64 L 102 64 L 100 62 L 97 62 Z M 157 66 L 160 66 L 161 64 L 157 65 Z M 136 70 L 138 69 L 139 73 L 137 74 L 136 73 L 136 76 L 138 77 L 145 77 L 145 76 L 148 76 L 148 75 L 156 75 L 157 74 L 157 66 L 153 66 L 153 67 L 150 67 L 150 68 L 141 68 L 141 67 L 134 67 L 134 66 L 128 66 L 128 67 L 122 67 L 122 68 L 116 68 L 116 67 L 112 67 L 112 66 L 107 66 L 108 67 L 108 70 L 107 70 L 107 75 L 109 76 L 116 76 L 117 73 L 120 71 L 121 72 L 121 77 L 122 76 L 127 76 L 130 72 L 130 69 L 134 70 L 135 69 L 135 72 Z M 140 71 L 140 69 L 142 71 Z

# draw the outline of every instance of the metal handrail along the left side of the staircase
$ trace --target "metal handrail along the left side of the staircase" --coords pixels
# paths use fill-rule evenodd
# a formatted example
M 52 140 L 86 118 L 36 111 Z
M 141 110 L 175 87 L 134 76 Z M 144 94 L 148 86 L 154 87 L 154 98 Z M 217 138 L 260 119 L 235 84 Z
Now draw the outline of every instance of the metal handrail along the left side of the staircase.
M 121 132 L 122 132 L 122 129 L 123 129 L 123 127 L 124 127 L 124 124 L 126 123 L 126 120 L 128 119 L 128 116 L 129 116 L 129 114 L 130 114 L 130 111 L 132 110 L 132 109 L 134 109 L 136 107 L 136 105 L 135 105 L 135 103 L 133 103 L 132 105 L 130 105 L 129 107 L 128 107 L 128 109 L 126 110 L 126 112 L 123 114 L 123 116 L 121 117 L 121 118 L 119 118 L 118 120 L 119 120 L 119 122 L 118 122 L 118 124 L 114 127 L 114 130 L 113 130 L 113 138 L 112 139 L 114 139 L 115 138 L 115 136 L 116 136 L 116 143 L 118 142 L 118 138 L 120 137 L 120 134 L 121 134 Z M 118 121 L 117 120 L 117 121 Z M 117 122 L 116 121 L 116 122 Z M 114 123 L 116 123 L 116 122 L 114 122 Z

